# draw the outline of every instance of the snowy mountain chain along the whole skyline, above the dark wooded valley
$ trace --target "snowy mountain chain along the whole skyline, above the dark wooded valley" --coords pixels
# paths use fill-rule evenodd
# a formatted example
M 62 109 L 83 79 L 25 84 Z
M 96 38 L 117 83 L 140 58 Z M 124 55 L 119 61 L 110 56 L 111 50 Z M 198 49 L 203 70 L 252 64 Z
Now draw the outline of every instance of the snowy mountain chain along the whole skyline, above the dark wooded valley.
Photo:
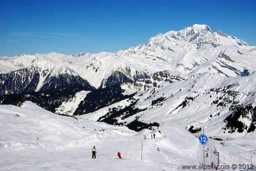
M 256 47 L 220 30 L 195 24 L 150 38 L 116 54 L 50 54 L 0 58 L 2 95 L 58 88 L 67 84 L 108 87 L 149 78 L 169 70 L 182 74 L 210 72 L 225 77 L 255 71 Z M 63 82 L 64 81 L 64 82 Z M 90 85 L 89 85 L 90 84 Z M 8 88 L 7 88 L 8 87 Z

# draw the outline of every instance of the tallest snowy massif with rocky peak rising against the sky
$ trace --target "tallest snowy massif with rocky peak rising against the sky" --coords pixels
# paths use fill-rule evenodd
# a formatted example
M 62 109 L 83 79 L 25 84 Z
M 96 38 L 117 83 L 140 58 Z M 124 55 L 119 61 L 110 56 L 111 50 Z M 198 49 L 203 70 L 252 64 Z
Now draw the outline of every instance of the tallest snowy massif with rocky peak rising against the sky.
M 244 68 L 255 71 L 255 53 L 255 47 L 234 36 L 220 30 L 212 32 L 209 26 L 195 24 L 178 32 L 158 34 L 145 44 L 117 54 L 151 60 L 150 73 L 170 70 L 182 74 L 210 72 L 236 77 Z

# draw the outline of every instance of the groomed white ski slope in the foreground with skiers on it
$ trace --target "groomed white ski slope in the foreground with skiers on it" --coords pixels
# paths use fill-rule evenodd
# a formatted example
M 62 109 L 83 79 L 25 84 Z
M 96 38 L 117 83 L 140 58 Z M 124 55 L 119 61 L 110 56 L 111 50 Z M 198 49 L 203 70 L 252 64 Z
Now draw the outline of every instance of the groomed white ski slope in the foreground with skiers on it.
M 182 165 L 203 162 L 198 139 L 171 121 L 153 127 L 154 130 L 134 132 L 127 127 L 56 115 L 29 101 L 21 107 L 0 105 L 0 120 L 0 154 L 4 156 L 0 158 L 1 170 L 173 171 L 182 170 Z M 151 138 L 153 133 L 156 138 Z M 209 139 L 205 163 L 217 163 L 212 153 L 217 149 L 220 164 L 249 164 L 250 155 L 256 157 L 255 140 L 255 133 L 250 139 L 229 138 L 223 147 L 220 141 Z M 96 159 L 90 156 L 93 146 L 97 149 Z M 122 160 L 115 159 L 118 151 Z

